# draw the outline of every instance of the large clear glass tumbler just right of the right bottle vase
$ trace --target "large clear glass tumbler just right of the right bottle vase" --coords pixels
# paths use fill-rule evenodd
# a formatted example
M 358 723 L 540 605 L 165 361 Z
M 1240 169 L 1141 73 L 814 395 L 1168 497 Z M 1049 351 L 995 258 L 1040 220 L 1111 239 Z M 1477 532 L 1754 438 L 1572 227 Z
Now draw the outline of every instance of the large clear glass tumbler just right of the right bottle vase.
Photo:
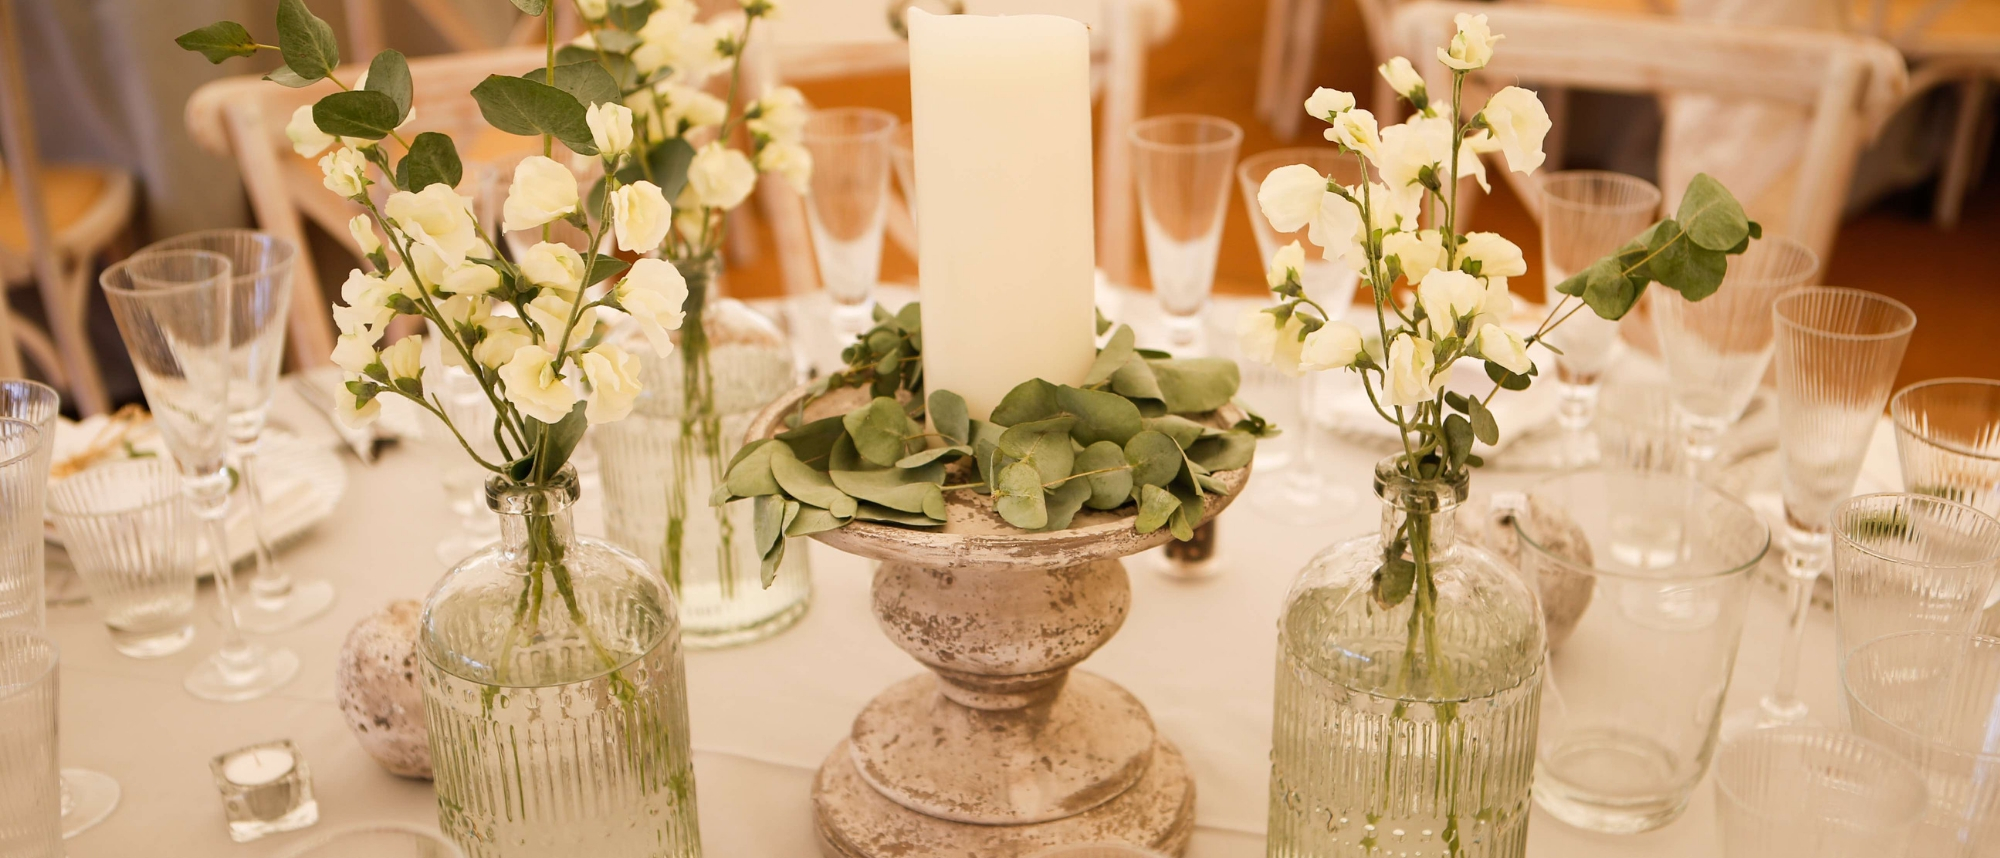
M 1550 652 L 1534 802 L 1600 832 L 1664 826 L 1716 746 L 1750 570 L 1770 548 L 1756 510 L 1682 474 L 1584 470 L 1528 490 L 1520 568 L 1574 616 Z M 1588 588 L 1550 588 L 1586 578 Z

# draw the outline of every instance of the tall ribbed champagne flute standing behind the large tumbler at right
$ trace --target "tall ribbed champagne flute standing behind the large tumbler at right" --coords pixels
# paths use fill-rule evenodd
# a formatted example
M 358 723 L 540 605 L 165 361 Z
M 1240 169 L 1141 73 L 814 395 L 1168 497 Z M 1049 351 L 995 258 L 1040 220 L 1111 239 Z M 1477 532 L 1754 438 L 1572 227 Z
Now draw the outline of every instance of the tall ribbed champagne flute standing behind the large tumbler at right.
M 1730 732 L 1798 724 L 1798 650 L 1806 642 L 1812 586 L 1826 572 L 1834 504 L 1854 492 L 1868 438 L 1882 420 L 1916 314 L 1894 298 L 1854 288 L 1804 288 L 1772 304 L 1778 366 L 1778 472 L 1784 490 L 1784 572 L 1790 630 L 1778 682 Z

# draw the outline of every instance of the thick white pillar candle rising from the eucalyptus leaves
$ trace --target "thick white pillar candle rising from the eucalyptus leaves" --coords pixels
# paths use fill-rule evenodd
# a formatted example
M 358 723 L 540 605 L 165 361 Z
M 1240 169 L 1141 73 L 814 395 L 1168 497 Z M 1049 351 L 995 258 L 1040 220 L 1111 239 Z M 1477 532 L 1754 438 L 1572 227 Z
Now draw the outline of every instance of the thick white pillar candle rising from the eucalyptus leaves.
M 908 24 L 924 386 L 986 418 L 1096 356 L 1090 34 L 1040 14 Z

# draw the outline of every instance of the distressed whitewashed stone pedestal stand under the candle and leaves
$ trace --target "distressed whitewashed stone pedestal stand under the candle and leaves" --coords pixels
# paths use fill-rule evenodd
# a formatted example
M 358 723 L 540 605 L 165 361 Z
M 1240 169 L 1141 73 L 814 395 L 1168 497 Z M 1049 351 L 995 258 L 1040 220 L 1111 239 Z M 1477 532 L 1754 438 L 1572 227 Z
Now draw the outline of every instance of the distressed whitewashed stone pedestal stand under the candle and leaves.
M 798 390 L 772 404 L 752 438 L 778 430 Z M 808 418 L 860 400 L 836 394 Z M 1234 420 L 1230 414 L 1226 420 Z M 1216 474 L 1242 492 L 1250 468 Z M 1070 670 L 1124 624 L 1128 554 L 1166 530 L 1084 510 L 1068 530 L 1020 532 L 992 500 L 952 492 L 942 532 L 854 522 L 818 534 L 882 560 L 874 616 L 930 674 L 874 698 L 812 786 L 828 858 L 1022 858 L 1050 846 L 1130 842 L 1182 854 L 1194 830 L 1194 780 L 1146 706 L 1116 682 Z

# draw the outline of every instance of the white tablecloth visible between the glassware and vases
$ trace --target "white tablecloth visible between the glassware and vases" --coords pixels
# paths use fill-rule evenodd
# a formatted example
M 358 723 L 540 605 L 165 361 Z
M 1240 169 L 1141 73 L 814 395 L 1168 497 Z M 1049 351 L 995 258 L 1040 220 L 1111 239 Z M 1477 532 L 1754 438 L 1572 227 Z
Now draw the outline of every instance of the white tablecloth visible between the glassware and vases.
M 300 402 L 280 400 L 280 422 L 320 428 Z M 1226 570 L 1178 582 L 1132 568 L 1132 614 L 1124 630 L 1084 668 L 1138 694 L 1160 730 L 1180 744 L 1198 784 L 1198 832 L 1190 858 L 1264 854 L 1264 796 L 1270 748 L 1274 622 L 1294 572 L 1324 544 L 1376 526 L 1366 496 L 1372 452 L 1332 446 L 1328 470 L 1356 490 L 1356 504 L 1326 528 L 1296 528 L 1242 498 L 1220 526 Z M 320 800 L 316 830 L 368 820 L 436 824 L 428 782 L 382 772 L 348 736 L 334 708 L 334 662 L 342 638 L 364 614 L 394 598 L 422 598 L 444 572 L 432 546 L 454 526 L 430 446 L 390 450 L 380 464 L 346 458 L 350 486 L 338 512 L 282 552 L 300 576 L 340 588 L 330 616 L 264 638 L 290 646 L 300 676 L 278 694 L 244 702 L 196 700 L 180 678 L 216 646 L 200 622 L 188 650 L 162 660 L 116 654 L 98 614 L 50 612 L 62 646 L 62 760 L 108 772 L 124 802 L 98 828 L 68 842 L 72 858 L 276 856 L 300 834 L 232 844 L 210 782 L 208 760 L 252 742 L 290 738 L 312 768 Z M 1878 436 L 1868 472 L 1896 484 L 1894 450 Z M 1886 476 L 1884 476 L 1886 474 Z M 1268 476 L 1262 480 L 1268 486 Z M 1520 488 L 1530 474 L 1478 474 L 1474 492 Z M 1252 480 L 1256 494 L 1258 480 Z M 580 528 L 594 528 L 586 498 Z M 868 614 L 868 562 L 812 544 L 814 602 L 782 636 L 724 652 L 688 656 L 688 698 L 696 748 L 702 840 L 720 858 L 810 858 L 810 782 L 824 754 L 868 698 L 918 672 L 890 646 Z M 204 590 L 204 600 L 208 598 Z M 1730 706 L 1748 706 L 1776 674 L 1782 600 L 1756 588 Z M 204 616 L 206 610 L 204 610 Z M 1814 712 L 1838 718 L 1830 618 L 1812 618 L 1802 694 Z M 1538 858 L 1708 856 L 1714 800 L 1702 784 L 1688 814 L 1650 834 L 1580 832 L 1542 814 L 1528 852 Z

